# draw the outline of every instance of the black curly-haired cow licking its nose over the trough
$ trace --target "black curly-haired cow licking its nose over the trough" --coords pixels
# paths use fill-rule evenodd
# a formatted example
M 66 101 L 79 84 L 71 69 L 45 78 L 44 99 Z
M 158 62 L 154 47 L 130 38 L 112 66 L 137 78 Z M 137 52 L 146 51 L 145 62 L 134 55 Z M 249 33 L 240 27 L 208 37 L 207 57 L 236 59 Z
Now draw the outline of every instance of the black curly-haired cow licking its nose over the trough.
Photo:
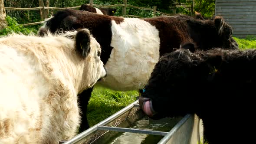
M 249 144 L 255 73 L 256 49 L 202 51 L 187 43 L 160 57 L 139 105 L 152 119 L 197 114 L 209 144 Z

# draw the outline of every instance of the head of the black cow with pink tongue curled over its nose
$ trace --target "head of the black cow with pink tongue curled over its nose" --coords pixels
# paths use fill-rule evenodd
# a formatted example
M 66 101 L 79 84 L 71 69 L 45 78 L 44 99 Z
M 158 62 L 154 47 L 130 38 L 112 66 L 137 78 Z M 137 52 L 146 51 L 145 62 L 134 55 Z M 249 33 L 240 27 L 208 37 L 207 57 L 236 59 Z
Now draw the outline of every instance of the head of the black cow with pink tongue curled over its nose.
M 139 98 L 141 109 L 153 119 L 169 114 L 186 114 L 181 105 L 184 97 L 180 93 L 188 91 L 185 82 L 190 73 L 190 51 L 177 49 L 171 54 L 161 56 L 155 65 L 145 92 Z M 191 95 L 187 95 L 188 97 Z

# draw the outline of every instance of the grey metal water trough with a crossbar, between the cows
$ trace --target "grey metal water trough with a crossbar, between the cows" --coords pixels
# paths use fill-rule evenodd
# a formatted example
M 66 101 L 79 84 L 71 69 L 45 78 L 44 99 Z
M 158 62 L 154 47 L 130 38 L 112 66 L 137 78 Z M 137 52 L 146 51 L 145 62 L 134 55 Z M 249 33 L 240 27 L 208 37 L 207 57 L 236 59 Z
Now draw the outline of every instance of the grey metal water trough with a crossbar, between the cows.
M 203 138 L 202 121 L 197 115 L 185 115 L 174 128 L 169 132 L 139 130 L 133 128 L 120 128 L 120 123 L 130 118 L 136 120 L 143 115 L 138 104 L 138 100 L 116 112 L 114 115 L 106 118 L 104 121 L 95 124 L 93 127 L 83 131 L 70 140 L 61 140 L 59 144 L 90 144 L 98 137 L 109 131 L 121 131 L 140 134 L 153 134 L 164 136 L 158 144 L 197 144 Z

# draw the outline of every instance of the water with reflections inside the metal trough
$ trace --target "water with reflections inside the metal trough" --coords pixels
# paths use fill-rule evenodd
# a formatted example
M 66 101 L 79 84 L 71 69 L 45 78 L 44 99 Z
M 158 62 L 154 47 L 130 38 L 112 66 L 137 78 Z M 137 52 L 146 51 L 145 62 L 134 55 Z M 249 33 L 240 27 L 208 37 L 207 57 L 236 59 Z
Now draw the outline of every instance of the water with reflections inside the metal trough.
M 141 130 L 151 131 L 165 131 L 169 132 L 180 120 L 179 118 L 163 118 L 161 120 L 152 120 L 147 116 L 139 120 L 131 122 L 129 126 L 122 128 L 135 128 Z M 138 134 L 130 132 L 114 132 L 104 134 L 102 137 L 96 139 L 92 144 L 157 144 L 164 136 L 151 134 Z

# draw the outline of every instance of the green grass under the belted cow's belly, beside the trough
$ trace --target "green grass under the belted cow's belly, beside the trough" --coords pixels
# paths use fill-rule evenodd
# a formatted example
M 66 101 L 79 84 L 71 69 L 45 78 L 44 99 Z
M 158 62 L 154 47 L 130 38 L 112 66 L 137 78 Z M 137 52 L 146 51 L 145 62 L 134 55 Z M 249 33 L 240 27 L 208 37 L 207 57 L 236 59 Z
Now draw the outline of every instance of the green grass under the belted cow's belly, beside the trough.
M 136 100 L 137 91 L 118 92 L 95 87 L 89 101 L 87 118 L 90 126 L 115 114 Z

